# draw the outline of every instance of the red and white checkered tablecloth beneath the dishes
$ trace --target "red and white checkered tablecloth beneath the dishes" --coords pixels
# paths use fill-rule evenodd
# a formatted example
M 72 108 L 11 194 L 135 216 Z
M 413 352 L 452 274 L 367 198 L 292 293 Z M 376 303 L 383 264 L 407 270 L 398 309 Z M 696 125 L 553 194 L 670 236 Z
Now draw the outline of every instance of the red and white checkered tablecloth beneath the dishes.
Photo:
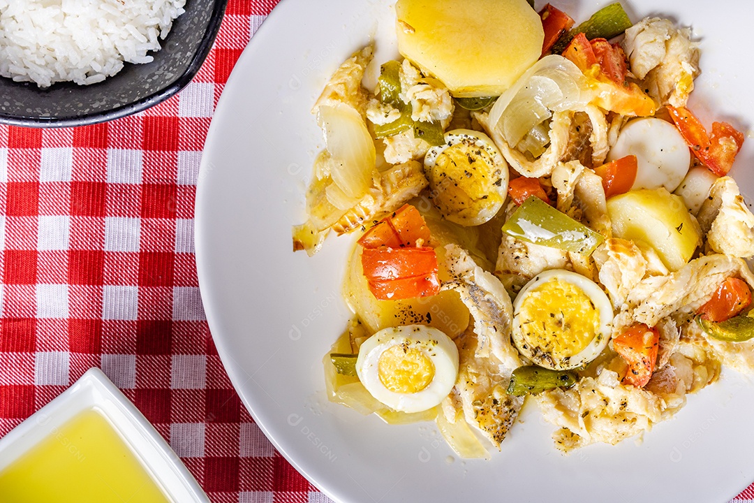
M 101 367 L 212 501 L 329 501 L 241 405 L 195 266 L 207 128 L 276 3 L 230 0 L 196 78 L 146 112 L 89 127 L 0 127 L 0 437 Z M 734 501 L 754 501 L 754 485 Z

